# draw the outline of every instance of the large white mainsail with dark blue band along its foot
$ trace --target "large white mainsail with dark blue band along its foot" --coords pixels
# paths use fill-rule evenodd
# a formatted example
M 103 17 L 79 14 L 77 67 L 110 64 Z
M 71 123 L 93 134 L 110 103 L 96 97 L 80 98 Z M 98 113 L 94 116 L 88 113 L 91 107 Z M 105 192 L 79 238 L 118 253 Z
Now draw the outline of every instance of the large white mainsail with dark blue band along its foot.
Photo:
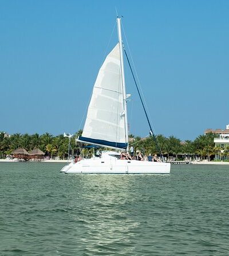
M 119 43 L 106 56 L 92 92 L 82 136 L 77 141 L 127 148 Z

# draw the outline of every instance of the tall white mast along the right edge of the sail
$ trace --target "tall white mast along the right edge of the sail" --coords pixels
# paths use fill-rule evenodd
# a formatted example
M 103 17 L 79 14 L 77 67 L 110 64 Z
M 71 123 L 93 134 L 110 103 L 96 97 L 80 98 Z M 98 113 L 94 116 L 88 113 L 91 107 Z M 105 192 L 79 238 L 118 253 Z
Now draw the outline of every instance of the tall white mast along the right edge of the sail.
M 124 74 L 124 62 L 123 62 L 123 40 L 121 37 L 121 18 L 117 18 L 117 29 L 119 35 L 119 49 L 121 60 L 121 80 L 123 84 L 123 103 L 124 103 L 124 120 L 125 120 L 125 139 L 127 142 L 127 152 L 129 151 L 129 137 L 128 137 L 128 120 L 127 120 L 127 94 L 125 92 L 125 74 Z

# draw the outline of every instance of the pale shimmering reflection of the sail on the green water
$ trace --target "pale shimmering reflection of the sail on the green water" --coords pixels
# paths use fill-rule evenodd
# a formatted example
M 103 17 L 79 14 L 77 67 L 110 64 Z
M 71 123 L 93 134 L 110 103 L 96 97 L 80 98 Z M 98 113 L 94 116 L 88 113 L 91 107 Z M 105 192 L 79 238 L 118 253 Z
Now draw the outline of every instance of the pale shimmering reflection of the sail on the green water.
M 70 201 L 71 215 L 76 226 L 78 222 L 84 223 L 85 232 L 80 238 L 84 249 L 99 255 L 103 250 L 115 251 L 120 245 L 128 246 L 131 253 L 135 249 L 131 238 L 140 223 L 129 214 L 128 205 L 136 204 L 131 188 L 137 177 L 85 175 L 73 179 L 81 193 Z

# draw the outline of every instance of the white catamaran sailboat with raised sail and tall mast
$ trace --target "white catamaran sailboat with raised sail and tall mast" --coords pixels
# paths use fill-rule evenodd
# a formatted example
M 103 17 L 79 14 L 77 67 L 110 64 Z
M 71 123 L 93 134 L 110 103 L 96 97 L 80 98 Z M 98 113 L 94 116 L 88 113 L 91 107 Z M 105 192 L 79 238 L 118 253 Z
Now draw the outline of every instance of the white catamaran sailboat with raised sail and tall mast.
M 128 151 L 127 98 L 121 38 L 121 19 L 117 18 L 119 42 L 106 56 L 88 107 L 82 135 L 77 141 L 116 149 L 104 150 L 100 157 L 72 161 L 64 166 L 65 173 L 104 174 L 168 174 L 171 165 L 166 162 L 121 160 L 117 150 Z M 151 131 L 152 133 L 152 131 Z

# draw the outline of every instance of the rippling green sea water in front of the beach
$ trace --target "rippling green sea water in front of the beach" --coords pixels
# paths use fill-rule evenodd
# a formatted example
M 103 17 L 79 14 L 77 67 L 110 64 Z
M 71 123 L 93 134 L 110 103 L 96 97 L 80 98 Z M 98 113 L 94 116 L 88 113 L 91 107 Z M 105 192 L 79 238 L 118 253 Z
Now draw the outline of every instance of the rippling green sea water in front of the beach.
M 0 255 L 229 255 L 229 166 L 64 174 L 0 163 Z

